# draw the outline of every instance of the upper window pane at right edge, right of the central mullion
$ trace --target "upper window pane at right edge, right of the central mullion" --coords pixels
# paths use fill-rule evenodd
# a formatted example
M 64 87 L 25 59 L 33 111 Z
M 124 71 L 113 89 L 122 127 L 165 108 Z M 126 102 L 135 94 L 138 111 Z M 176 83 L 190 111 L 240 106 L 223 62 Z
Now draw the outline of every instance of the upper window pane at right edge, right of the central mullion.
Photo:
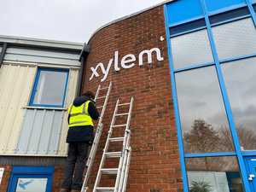
M 250 18 L 212 27 L 220 59 L 256 53 L 256 31 Z

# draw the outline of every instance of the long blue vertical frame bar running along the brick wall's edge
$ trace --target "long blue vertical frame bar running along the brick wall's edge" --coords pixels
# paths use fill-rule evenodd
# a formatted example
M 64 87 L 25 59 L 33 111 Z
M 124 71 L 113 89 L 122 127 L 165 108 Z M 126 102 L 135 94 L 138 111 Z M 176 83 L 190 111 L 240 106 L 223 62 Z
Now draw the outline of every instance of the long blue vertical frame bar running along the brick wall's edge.
M 181 171 L 182 171 L 182 177 L 183 177 L 183 191 L 189 192 L 188 178 L 187 178 L 187 174 L 186 174 L 186 163 L 185 163 L 185 159 L 184 159 L 183 137 L 182 137 L 178 107 L 177 107 L 177 92 L 176 92 L 175 76 L 174 76 L 174 70 L 173 70 L 170 31 L 169 31 L 169 25 L 168 25 L 168 23 L 169 23 L 168 11 L 170 11 L 170 9 L 168 9 L 165 4 L 164 12 L 165 12 L 165 20 L 166 20 L 166 37 L 167 37 L 166 42 L 167 42 L 167 49 L 168 49 L 169 68 L 171 70 L 172 97 L 173 97 L 173 101 L 174 101 L 173 105 L 174 105 L 175 117 L 176 117 L 177 142 L 178 142 L 180 164 L 181 164 Z

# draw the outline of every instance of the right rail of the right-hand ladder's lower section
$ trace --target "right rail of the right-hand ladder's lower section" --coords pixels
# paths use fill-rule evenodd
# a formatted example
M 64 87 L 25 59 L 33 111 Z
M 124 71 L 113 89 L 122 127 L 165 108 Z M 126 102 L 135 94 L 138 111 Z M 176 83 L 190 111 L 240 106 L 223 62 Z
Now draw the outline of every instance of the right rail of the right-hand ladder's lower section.
M 122 166 L 120 169 L 118 191 L 120 191 L 123 186 L 123 181 L 124 181 L 124 177 L 125 177 L 125 166 L 126 166 L 126 161 L 127 161 L 127 156 L 128 156 L 127 153 L 128 153 L 128 149 L 130 146 L 130 138 L 131 138 L 131 131 L 125 131 L 125 132 L 127 134 L 127 140 L 126 140 L 125 146 L 123 148 L 124 159 L 123 159 Z

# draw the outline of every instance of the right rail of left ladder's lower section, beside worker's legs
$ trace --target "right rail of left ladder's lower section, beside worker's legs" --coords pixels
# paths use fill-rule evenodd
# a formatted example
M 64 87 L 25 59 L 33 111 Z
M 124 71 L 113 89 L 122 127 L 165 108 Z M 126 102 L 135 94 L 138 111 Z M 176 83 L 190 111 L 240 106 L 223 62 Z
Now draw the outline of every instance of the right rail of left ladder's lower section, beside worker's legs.
M 97 147 L 98 147 L 100 137 L 102 136 L 102 127 L 103 127 L 103 125 L 101 124 L 101 125 L 99 125 L 99 127 L 96 130 L 95 141 L 92 144 L 92 147 L 90 149 L 90 155 L 89 155 L 89 158 L 86 162 L 86 174 L 85 174 L 85 177 L 84 177 L 84 182 L 83 182 L 83 187 L 81 189 L 81 192 L 85 192 L 87 190 L 87 189 L 85 189 L 85 187 L 86 187 L 86 184 L 88 183 L 88 180 L 89 180 L 89 177 L 90 177 L 90 171 L 91 171 L 91 168 L 92 168 L 92 163 L 93 163 L 93 160 L 95 159 L 96 150 L 97 150 Z

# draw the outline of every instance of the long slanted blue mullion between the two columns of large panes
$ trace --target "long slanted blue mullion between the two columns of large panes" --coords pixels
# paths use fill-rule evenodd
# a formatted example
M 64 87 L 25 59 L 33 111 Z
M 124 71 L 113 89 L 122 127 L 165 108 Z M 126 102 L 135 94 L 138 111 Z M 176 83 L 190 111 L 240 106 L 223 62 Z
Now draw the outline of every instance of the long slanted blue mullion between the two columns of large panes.
M 237 154 L 237 158 L 238 158 L 238 162 L 239 162 L 239 166 L 240 166 L 241 177 L 242 177 L 242 181 L 243 181 L 243 184 L 244 184 L 244 189 L 245 189 L 246 192 L 250 192 L 249 183 L 248 183 L 248 180 L 247 180 L 246 167 L 245 167 L 245 163 L 244 163 L 244 160 L 243 160 L 243 157 L 242 157 L 242 154 L 241 154 L 240 143 L 239 143 L 239 139 L 238 139 L 238 136 L 237 136 L 237 133 L 236 133 L 236 125 L 235 125 L 234 120 L 233 120 L 233 115 L 232 115 L 232 111 L 231 111 L 231 107 L 230 107 L 230 102 L 229 102 L 227 90 L 226 90 L 225 84 L 224 84 L 224 77 L 223 77 L 221 67 L 220 67 L 220 64 L 219 64 L 216 45 L 214 44 L 214 40 L 213 40 L 212 28 L 211 28 L 209 16 L 207 14 L 207 6 L 206 6 L 206 3 L 205 3 L 205 0 L 201 0 L 201 4 L 202 4 L 202 8 L 204 10 L 205 19 L 206 19 L 206 22 L 207 22 L 208 37 L 209 37 L 210 44 L 211 44 L 211 47 L 212 47 L 213 58 L 214 58 L 214 61 L 216 63 L 216 71 L 218 73 L 218 81 L 219 81 L 220 89 L 221 89 L 223 99 L 224 99 L 225 110 L 226 110 L 226 113 L 227 113 L 227 116 L 228 116 L 228 119 L 229 119 L 230 131 L 231 131 L 233 141 L 234 141 L 234 144 L 235 144 L 235 148 L 236 148 L 236 154 Z

